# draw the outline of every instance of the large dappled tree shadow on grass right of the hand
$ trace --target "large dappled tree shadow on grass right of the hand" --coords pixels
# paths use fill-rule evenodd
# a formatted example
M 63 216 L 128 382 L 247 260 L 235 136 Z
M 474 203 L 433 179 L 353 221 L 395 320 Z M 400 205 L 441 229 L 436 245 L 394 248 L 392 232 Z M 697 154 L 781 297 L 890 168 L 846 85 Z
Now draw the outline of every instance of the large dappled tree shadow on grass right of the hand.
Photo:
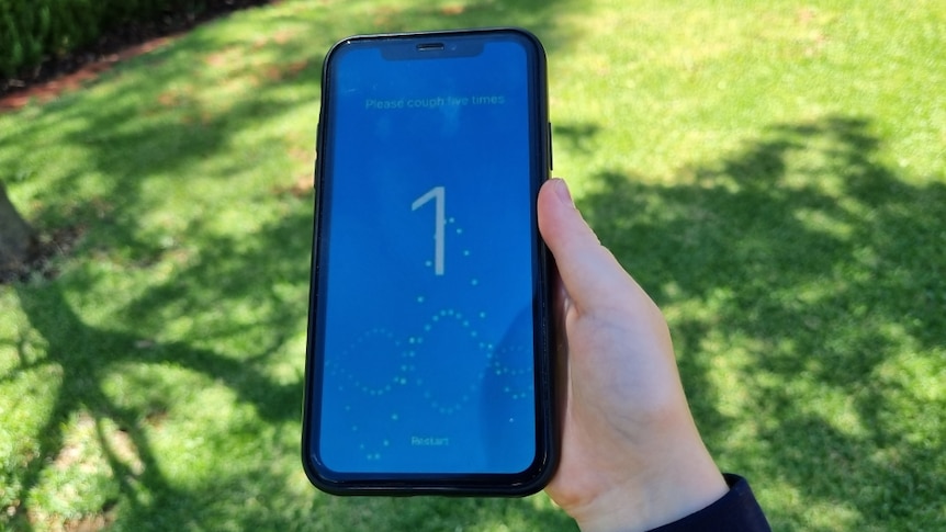
M 879 147 L 863 118 L 777 125 L 682 184 L 602 173 L 579 203 L 668 309 L 710 446 L 803 494 L 808 530 L 830 507 L 834 527 L 935 522 L 946 491 L 946 185 Z

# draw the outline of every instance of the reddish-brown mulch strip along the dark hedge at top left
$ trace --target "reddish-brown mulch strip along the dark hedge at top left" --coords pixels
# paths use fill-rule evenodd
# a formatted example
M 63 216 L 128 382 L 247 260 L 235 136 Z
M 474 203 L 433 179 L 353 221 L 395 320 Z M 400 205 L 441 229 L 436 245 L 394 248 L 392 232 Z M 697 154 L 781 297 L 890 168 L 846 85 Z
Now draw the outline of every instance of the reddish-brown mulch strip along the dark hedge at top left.
M 278 1 L 206 0 L 199 15 L 165 12 L 150 22 L 134 22 L 115 27 L 92 46 L 50 57 L 13 78 L 0 78 L 0 112 L 20 109 L 33 99 L 52 100 L 63 91 L 81 88 L 112 65 L 158 48 L 204 22 Z

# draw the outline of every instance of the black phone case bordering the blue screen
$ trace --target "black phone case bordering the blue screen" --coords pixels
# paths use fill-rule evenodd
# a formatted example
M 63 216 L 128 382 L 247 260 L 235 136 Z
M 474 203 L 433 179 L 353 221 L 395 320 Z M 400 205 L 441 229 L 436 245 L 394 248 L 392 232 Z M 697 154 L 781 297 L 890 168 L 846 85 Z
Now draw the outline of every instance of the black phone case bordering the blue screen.
M 326 128 L 330 117 L 326 115 L 329 109 L 329 90 L 333 83 L 329 65 L 334 53 L 348 43 L 358 41 L 375 41 L 394 46 L 410 44 L 415 46 L 423 43 L 449 43 L 451 38 L 469 35 L 489 36 L 508 35 L 509 33 L 525 37 L 534 47 L 532 54 L 534 68 L 531 76 L 534 83 L 533 110 L 537 123 L 537 135 L 530 139 L 530 157 L 533 168 L 538 168 L 539 179 L 536 180 L 536 190 L 532 191 L 533 205 L 531 210 L 532 226 L 538 237 L 538 222 L 536 215 L 534 199 L 538 186 L 549 178 L 551 171 L 551 125 L 548 118 L 548 88 L 545 71 L 545 54 L 539 39 L 530 32 L 517 27 L 492 27 L 442 32 L 417 32 L 378 35 L 357 35 L 345 38 L 329 49 L 323 65 L 323 98 L 319 113 L 319 124 L 316 136 L 316 152 L 325 154 Z M 421 41 L 423 43 L 418 43 Z M 319 190 L 324 186 L 323 179 L 325 158 L 317 157 L 315 166 L 315 219 L 313 234 L 312 276 L 309 290 L 309 313 L 306 342 L 305 365 L 305 390 L 303 401 L 303 430 L 302 430 L 302 461 L 306 476 L 318 489 L 333 495 L 380 495 L 380 496 L 414 496 L 414 495 L 442 495 L 442 496 L 500 496 L 521 497 L 541 490 L 552 478 L 558 466 L 560 429 L 556 409 L 555 394 L 555 365 L 554 360 L 554 330 L 552 319 L 552 291 L 551 272 L 552 258 L 544 244 L 539 239 L 539 268 L 537 279 L 539 284 L 536 291 L 538 305 L 533 306 L 533 314 L 539 341 L 541 344 L 537 351 L 534 375 L 537 394 L 537 452 L 532 466 L 521 474 L 364 474 L 364 473 L 339 473 L 334 472 L 324 464 L 314 460 L 313 445 L 317 442 L 317 430 L 319 423 L 319 397 L 320 386 L 324 377 L 324 367 L 319 353 L 315 352 L 314 335 L 317 329 L 317 313 L 319 297 L 318 290 L 318 249 L 319 226 L 323 224 L 322 215 L 325 212 Z

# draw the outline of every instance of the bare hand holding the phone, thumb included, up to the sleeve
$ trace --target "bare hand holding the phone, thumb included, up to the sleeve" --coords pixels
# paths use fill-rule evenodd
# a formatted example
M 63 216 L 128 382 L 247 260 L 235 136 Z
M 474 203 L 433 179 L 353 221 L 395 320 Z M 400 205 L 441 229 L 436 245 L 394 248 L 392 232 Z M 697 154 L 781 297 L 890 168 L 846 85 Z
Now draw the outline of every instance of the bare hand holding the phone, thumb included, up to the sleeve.
M 650 530 L 709 506 L 728 487 L 694 425 L 661 310 L 564 181 L 544 183 L 538 202 L 567 359 L 562 454 L 545 491 L 584 532 Z

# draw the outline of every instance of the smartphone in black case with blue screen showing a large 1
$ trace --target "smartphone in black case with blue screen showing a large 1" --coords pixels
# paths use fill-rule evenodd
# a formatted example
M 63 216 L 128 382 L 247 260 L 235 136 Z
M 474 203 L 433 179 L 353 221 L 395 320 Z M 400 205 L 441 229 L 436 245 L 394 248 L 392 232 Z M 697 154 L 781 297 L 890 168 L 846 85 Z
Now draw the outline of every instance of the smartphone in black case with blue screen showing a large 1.
M 538 491 L 556 459 L 541 44 L 354 36 L 322 89 L 308 478 L 336 495 Z

